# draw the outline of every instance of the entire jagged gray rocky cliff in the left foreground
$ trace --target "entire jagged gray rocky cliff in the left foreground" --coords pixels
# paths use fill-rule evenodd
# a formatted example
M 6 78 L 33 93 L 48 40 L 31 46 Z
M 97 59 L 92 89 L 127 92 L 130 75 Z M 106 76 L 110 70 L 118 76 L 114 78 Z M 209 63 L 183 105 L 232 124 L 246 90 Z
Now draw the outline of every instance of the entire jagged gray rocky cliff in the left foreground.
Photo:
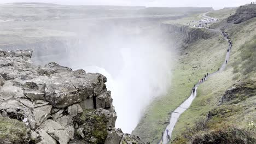
M 114 128 L 105 76 L 54 62 L 37 67 L 31 56 L 0 51 L 0 143 L 143 143 Z

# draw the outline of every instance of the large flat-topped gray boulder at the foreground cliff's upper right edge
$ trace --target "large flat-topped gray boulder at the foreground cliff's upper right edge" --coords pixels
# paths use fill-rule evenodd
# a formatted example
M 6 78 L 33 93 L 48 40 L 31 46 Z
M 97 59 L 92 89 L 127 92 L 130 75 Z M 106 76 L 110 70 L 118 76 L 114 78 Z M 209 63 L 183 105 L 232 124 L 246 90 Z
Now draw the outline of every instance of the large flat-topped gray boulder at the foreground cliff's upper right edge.
M 101 74 L 86 74 L 76 79 L 72 73 L 67 72 L 51 76 L 51 82 L 46 83 L 45 100 L 57 108 L 64 108 L 100 94 L 106 79 Z

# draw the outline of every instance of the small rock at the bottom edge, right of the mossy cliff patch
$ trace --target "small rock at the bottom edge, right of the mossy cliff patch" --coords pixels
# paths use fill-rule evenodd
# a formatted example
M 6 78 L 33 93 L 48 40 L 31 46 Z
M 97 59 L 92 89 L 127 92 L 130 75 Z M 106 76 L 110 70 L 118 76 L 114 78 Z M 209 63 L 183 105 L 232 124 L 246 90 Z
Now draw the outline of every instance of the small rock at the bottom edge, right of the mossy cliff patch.
M 123 138 L 123 131 L 113 127 L 108 128 L 108 136 L 105 140 L 105 144 L 119 144 Z

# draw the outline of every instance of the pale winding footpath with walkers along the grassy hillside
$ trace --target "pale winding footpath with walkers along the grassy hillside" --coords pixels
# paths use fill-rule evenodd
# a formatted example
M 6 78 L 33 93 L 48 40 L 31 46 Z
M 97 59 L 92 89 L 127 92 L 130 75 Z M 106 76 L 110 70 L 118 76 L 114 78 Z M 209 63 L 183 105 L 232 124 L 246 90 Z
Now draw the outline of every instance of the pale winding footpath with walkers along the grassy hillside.
M 207 12 L 209 13 L 209 12 Z M 204 13 L 203 16 L 206 17 L 207 19 L 211 19 L 211 17 L 209 16 L 206 16 L 207 13 Z M 206 28 L 208 29 L 208 28 Z M 222 33 L 222 31 L 220 30 L 217 30 L 217 29 L 208 29 L 210 31 L 214 31 L 214 32 L 219 32 L 220 34 L 223 35 L 223 37 L 225 38 L 226 41 L 228 41 L 229 43 L 229 39 L 228 39 L 228 35 L 226 33 Z M 219 70 L 215 71 L 214 73 L 212 74 L 209 74 L 207 77 L 206 77 L 206 80 L 208 79 L 208 77 L 211 77 L 212 75 L 216 74 L 216 73 L 219 73 L 219 71 L 222 71 L 225 69 L 226 67 L 226 61 L 229 62 L 229 55 L 230 55 L 230 52 L 231 52 L 231 49 L 232 49 L 232 45 L 229 44 L 229 47 L 228 47 L 229 51 L 226 52 L 226 57 L 225 57 L 225 61 L 223 62 L 223 64 L 221 65 L 221 67 L 219 68 Z M 226 50 L 228 50 L 226 49 Z M 204 77 L 203 77 L 204 78 Z M 170 118 L 170 123 L 167 125 L 165 131 L 164 131 L 164 136 L 162 137 L 161 141 L 159 143 L 162 143 L 162 144 L 167 144 L 169 141 L 167 140 L 167 136 L 170 135 L 170 138 L 172 136 L 172 131 L 174 129 L 174 126 L 176 124 L 176 122 L 178 121 L 178 118 L 179 116 L 181 116 L 181 114 L 187 110 L 189 108 L 189 106 L 191 105 L 192 101 L 195 99 L 196 97 L 196 91 L 197 91 L 197 87 L 201 84 L 202 82 L 198 82 L 196 83 L 195 85 L 195 92 L 191 92 L 191 95 L 190 97 L 185 100 L 181 105 L 179 105 L 177 107 L 177 109 L 175 109 L 174 111 L 172 111 L 171 113 L 171 118 Z M 192 88 L 191 88 L 192 89 Z M 167 135 L 167 130 L 168 130 L 168 135 Z

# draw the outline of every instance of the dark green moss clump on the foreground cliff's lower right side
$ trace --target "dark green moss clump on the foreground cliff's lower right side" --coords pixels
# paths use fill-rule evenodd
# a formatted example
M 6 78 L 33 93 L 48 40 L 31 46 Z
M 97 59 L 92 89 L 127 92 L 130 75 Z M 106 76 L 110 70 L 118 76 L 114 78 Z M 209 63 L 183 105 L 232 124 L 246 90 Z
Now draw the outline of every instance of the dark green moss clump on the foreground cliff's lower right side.
M 107 133 L 107 118 L 104 115 L 96 115 L 93 110 L 85 110 L 82 115 L 74 118 L 74 124 L 77 124 L 79 128 L 83 128 L 83 134 L 85 135 L 85 142 L 89 143 L 104 143 Z M 91 137 L 94 137 L 96 141 L 91 141 Z M 77 139 L 82 139 L 78 133 L 75 134 Z

